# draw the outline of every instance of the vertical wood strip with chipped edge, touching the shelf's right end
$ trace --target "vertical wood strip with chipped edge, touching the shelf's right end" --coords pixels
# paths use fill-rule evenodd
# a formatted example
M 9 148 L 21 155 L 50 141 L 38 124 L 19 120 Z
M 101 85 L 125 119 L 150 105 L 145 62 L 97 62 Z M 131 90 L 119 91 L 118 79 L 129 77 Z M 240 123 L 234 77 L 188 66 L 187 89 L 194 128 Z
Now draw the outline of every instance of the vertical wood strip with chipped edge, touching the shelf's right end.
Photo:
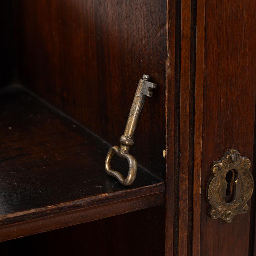
M 174 80 L 175 80 L 175 1 L 167 0 L 166 11 L 166 217 L 165 255 L 173 255 L 173 205 L 174 205 Z

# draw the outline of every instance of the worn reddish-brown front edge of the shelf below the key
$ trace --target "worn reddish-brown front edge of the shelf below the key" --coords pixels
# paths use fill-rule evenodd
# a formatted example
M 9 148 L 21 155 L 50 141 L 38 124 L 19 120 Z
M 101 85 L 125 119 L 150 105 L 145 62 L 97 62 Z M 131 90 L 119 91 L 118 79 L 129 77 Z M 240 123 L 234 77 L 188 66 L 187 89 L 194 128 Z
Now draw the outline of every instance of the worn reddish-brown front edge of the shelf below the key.
M 0 241 L 6 241 L 13 238 L 24 237 L 27 235 L 33 235 L 49 230 L 116 216 L 123 213 L 138 211 L 162 205 L 163 203 L 164 193 L 147 193 L 145 196 L 119 200 L 118 203 L 112 202 L 89 207 L 83 206 L 86 208 L 80 207 L 78 210 L 65 209 L 63 210 L 63 213 L 58 213 L 58 211 L 56 211 L 45 217 L 37 216 L 36 218 L 33 216 L 33 219 L 30 219 L 32 216 L 27 216 L 28 220 L 26 221 L 20 221 L 16 218 L 16 222 L 14 224 L 0 227 Z M 43 216 L 43 214 L 41 215 Z M 134 222 L 136 222 L 136 220 L 134 220 Z M 114 228 L 116 227 L 114 226 Z M 14 241 L 14 243 L 15 242 L 16 241 Z

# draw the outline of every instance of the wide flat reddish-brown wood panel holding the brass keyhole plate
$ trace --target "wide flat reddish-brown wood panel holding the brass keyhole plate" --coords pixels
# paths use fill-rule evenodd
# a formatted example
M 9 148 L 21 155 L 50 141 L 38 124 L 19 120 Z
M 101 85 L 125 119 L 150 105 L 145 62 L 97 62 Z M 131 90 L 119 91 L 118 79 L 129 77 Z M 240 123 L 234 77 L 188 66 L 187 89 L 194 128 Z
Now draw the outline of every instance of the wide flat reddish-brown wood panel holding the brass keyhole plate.
M 206 1 L 205 5 L 202 256 L 248 255 L 250 212 L 236 216 L 231 224 L 209 218 L 206 214 L 206 186 L 211 175 L 211 163 L 222 157 L 230 147 L 253 159 L 255 12 L 256 2 L 250 0 Z

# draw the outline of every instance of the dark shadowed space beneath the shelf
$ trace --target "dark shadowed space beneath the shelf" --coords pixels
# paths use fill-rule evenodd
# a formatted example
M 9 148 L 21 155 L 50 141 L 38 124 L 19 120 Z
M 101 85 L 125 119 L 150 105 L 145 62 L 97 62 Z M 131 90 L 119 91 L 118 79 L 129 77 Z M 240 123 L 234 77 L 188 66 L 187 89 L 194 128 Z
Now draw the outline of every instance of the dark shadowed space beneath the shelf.
M 154 219 L 140 221 L 138 216 L 149 212 Z M 159 247 L 164 247 L 164 240 L 156 236 L 151 246 L 147 240 L 164 220 L 156 212 L 162 212 L 160 206 L 1 242 L 1 255 L 159 255 Z M 124 218 L 132 220 L 132 235 L 123 225 Z M 104 230 L 107 230 L 107 235 Z

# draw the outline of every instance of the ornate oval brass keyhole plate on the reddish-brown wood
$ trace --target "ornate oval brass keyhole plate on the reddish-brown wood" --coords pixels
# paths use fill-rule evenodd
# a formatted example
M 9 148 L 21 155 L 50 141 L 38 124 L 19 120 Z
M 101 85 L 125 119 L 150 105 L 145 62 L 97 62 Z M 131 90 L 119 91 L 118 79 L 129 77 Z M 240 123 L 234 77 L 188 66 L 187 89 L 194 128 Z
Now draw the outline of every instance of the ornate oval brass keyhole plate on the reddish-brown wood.
M 246 204 L 252 196 L 253 177 L 251 161 L 230 148 L 224 156 L 212 163 L 212 176 L 207 184 L 208 214 L 230 223 L 234 216 L 246 213 Z

